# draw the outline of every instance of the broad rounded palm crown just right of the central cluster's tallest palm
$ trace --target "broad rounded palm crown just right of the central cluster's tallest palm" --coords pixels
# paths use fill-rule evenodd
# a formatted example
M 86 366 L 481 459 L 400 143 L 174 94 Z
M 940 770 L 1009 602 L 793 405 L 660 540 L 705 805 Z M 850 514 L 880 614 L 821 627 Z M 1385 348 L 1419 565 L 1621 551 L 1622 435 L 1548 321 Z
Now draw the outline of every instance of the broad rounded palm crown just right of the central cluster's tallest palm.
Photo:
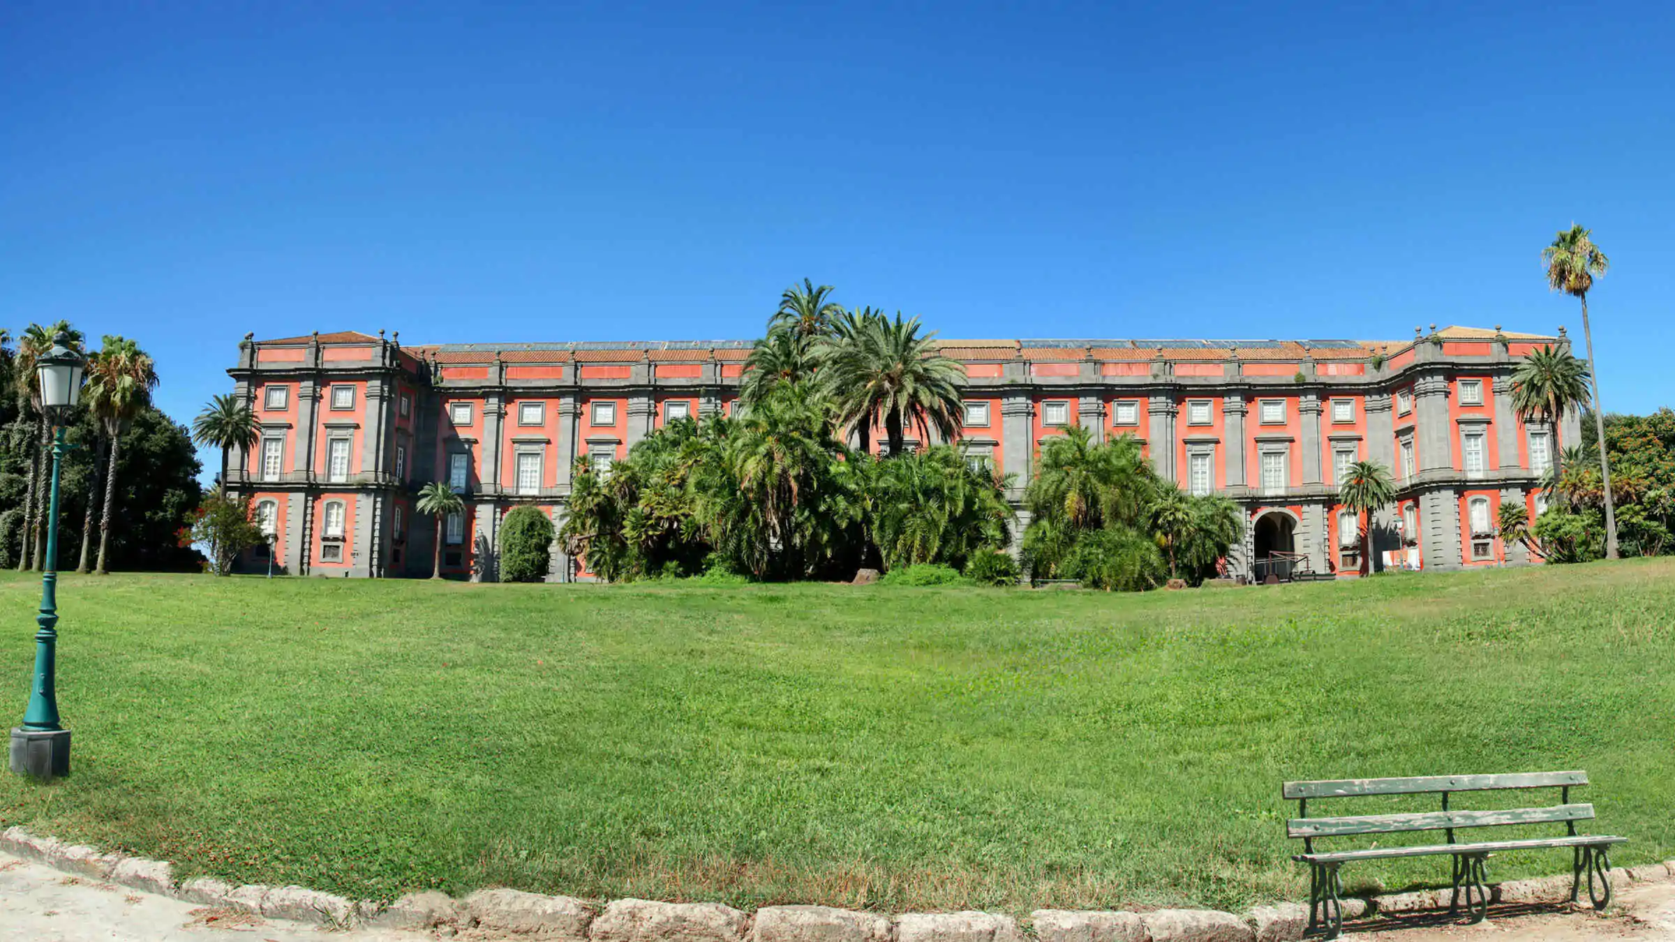
M 904 431 L 923 439 L 960 434 L 965 369 L 936 352 L 936 334 L 920 335 L 920 318 L 859 318 L 853 339 L 822 345 L 821 377 L 843 424 L 863 429 L 883 417 L 889 454 L 901 454 Z M 928 444 L 928 441 L 926 441 Z

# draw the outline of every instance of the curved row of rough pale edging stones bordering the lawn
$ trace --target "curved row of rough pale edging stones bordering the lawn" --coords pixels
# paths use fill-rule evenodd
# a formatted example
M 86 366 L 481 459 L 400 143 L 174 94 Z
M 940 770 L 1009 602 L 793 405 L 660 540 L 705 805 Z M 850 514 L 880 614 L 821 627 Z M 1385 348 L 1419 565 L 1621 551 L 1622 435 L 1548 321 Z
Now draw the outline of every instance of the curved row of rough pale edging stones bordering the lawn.
M 0 851 L 65 873 L 119 883 L 178 900 L 234 907 L 271 919 L 347 929 L 494 929 L 563 942 L 1298 942 L 1308 907 L 1275 903 L 1245 914 L 1161 908 L 1152 912 L 1035 910 L 1025 925 L 993 912 L 883 915 L 832 907 L 762 907 L 745 914 L 722 903 L 581 900 L 521 890 L 477 890 L 462 900 L 425 890 L 392 902 L 347 900 L 307 887 L 234 887 L 213 877 L 178 883 L 166 860 L 102 853 L 23 828 L 0 831 Z M 1675 860 L 1611 868 L 1616 887 L 1675 878 Z M 1501 903 L 1561 902 L 1569 875 L 1491 885 Z M 1415 912 L 1449 903 L 1447 890 L 1417 890 L 1343 900 L 1345 919 Z

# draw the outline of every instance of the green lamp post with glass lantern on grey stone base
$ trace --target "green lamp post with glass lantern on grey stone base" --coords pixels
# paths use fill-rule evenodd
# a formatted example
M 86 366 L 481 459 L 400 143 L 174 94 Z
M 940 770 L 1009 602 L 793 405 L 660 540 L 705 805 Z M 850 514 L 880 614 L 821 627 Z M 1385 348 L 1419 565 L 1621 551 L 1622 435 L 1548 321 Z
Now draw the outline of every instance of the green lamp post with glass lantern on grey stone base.
M 52 422 L 52 496 L 47 503 L 47 560 L 40 575 L 40 615 L 35 617 L 35 682 L 23 711 L 23 726 L 12 729 L 10 764 L 13 773 L 49 781 L 70 774 L 70 731 L 59 724 L 59 697 L 54 667 L 59 645 L 59 464 L 69 443 L 64 427 L 70 409 L 82 396 L 85 364 L 62 330 L 52 349 L 35 360 L 40 379 L 40 406 Z

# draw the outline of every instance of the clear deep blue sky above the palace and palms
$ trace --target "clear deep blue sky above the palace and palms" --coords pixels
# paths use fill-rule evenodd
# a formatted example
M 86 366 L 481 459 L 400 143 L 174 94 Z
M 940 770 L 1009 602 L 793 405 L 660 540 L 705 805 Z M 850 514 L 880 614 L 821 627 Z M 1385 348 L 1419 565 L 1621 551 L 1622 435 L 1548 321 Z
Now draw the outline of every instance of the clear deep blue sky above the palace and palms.
M 1580 332 L 1675 402 L 1667 3 L 0 5 L 0 323 L 754 337 L 804 275 L 950 337 Z

